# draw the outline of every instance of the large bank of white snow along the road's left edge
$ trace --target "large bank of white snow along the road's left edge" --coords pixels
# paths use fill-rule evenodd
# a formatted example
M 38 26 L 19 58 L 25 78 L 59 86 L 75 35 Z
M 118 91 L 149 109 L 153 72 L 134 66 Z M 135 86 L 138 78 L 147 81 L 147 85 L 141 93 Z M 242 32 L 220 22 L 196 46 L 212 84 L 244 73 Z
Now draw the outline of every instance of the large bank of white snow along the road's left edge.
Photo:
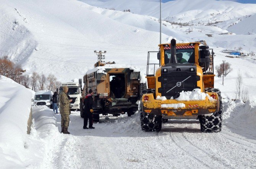
M 34 93 L 9 78 L 0 79 L 0 164 L 1 168 L 49 168 L 49 153 L 61 137 L 54 113 L 33 108 L 31 133 L 27 125 Z

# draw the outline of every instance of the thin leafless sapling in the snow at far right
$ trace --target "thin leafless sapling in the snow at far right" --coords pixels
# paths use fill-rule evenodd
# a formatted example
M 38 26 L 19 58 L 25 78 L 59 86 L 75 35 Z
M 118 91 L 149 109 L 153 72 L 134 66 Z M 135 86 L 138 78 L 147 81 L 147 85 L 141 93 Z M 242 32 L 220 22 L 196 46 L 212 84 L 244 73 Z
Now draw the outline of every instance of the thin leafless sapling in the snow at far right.
M 240 70 L 237 73 L 235 95 L 235 99 L 241 99 L 243 102 L 249 100 L 248 89 L 243 86 L 243 77 Z

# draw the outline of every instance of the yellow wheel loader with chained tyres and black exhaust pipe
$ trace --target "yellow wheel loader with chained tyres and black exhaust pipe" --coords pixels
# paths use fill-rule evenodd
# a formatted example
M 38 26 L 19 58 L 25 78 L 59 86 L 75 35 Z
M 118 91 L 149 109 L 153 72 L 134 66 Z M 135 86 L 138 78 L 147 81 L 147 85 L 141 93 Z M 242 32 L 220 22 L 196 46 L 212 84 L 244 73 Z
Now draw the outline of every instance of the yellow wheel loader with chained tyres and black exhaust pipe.
M 222 98 L 219 89 L 214 88 L 213 49 L 200 42 L 176 44 L 172 39 L 170 44 L 159 45 L 158 63 L 150 62 L 150 53 L 147 89 L 141 93 L 142 130 L 160 131 L 168 119 L 198 119 L 201 131 L 221 131 Z M 201 99 L 181 96 L 193 92 Z

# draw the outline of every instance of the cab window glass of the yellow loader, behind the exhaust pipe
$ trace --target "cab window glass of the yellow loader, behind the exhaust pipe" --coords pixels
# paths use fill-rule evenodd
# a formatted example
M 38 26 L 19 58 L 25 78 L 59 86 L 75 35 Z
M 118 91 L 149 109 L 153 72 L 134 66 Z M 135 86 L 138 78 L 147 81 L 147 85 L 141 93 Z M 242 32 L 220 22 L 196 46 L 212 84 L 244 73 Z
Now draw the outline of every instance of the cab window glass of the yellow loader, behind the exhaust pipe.
M 176 56 L 178 63 L 194 63 L 194 48 L 189 49 L 176 49 Z M 170 61 L 171 51 L 164 51 L 164 63 L 167 64 Z

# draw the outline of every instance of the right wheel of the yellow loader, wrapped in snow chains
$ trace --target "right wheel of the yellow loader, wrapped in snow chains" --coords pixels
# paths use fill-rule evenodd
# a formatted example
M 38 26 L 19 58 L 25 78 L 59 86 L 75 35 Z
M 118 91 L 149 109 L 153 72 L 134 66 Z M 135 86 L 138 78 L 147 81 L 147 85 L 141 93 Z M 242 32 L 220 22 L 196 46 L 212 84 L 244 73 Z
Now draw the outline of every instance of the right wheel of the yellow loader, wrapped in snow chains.
M 205 91 L 217 92 L 220 99 L 219 112 L 213 113 L 211 116 L 199 116 L 201 131 L 203 132 L 219 132 L 222 129 L 222 97 L 219 89 L 206 88 Z

